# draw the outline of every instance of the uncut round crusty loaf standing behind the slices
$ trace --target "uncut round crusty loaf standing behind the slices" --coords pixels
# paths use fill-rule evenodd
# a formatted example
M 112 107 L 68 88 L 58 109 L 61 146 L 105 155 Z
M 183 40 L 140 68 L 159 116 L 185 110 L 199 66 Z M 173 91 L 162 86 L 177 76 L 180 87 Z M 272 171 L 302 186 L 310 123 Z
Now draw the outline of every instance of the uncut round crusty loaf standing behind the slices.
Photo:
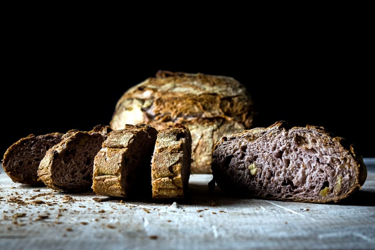
M 252 99 L 233 78 L 159 71 L 124 93 L 111 127 L 146 123 L 160 130 L 181 123 L 192 135 L 192 173 L 210 173 L 214 143 L 250 128 L 252 119 Z

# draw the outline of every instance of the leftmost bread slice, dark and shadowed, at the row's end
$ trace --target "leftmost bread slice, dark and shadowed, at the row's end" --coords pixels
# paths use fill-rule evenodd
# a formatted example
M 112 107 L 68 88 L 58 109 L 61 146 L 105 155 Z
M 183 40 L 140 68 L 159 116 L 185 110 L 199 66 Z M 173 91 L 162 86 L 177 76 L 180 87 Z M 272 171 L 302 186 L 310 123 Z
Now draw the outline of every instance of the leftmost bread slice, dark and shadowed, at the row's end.
M 30 134 L 10 146 L 4 154 L 3 168 L 14 182 L 44 185 L 38 181 L 38 167 L 46 151 L 61 141 L 63 134 L 52 133 L 42 136 Z

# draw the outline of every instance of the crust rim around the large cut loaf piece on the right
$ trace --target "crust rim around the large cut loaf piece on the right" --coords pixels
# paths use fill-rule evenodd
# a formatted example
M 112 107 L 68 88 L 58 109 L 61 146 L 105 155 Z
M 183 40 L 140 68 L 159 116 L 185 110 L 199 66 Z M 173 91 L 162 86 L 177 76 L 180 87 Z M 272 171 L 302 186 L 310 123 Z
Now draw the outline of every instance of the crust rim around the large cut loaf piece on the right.
M 262 133 L 264 133 L 266 131 L 275 130 L 275 132 L 276 132 L 278 130 L 287 130 L 287 131 L 291 132 L 293 130 L 300 130 L 300 129 L 308 129 L 308 130 L 311 130 L 311 131 L 316 131 L 320 134 L 324 134 L 324 135 L 330 137 L 333 141 L 339 143 L 339 145 L 342 147 L 343 152 L 348 153 L 353 158 L 354 162 L 356 163 L 356 167 L 357 167 L 356 170 L 357 171 L 356 171 L 356 176 L 354 176 L 354 178 L 355 178 L 354 185 L 351 187 L 350 191 L 348 191 L 344 195 L 334 196 L 334 197 L 332 197 L 332 199 L 313 199 L 313 200 L 310 199 L 310 200 L 308 200 L 308 199 L 302 199 L 302 198 L 298 198 L 298 197 L 297 198 L 296 197 L 290 197 L 290 198 L 284 198 L 284 199 L 277 199 L 277 198 L 270 198 L 270 197 L 266 197 L 266 196 L 262 196 L 260 198 L 271 199 L 271 200 L 289 200 L 289 201 L 296 201 L 296 202 L 311 202 L 311 203 L 338 202 L 342 199 L 345 199 L 350 194 L 354 193 L 356 190 L 358 190 L 359 188 L 362 187 L 362 185 L 365 183 L 366 177 L 367 177 L 367 169 L 366 169 L 365 164 L 363 163 L 362 156 L 359 155 L 358 152 L 356 152 L 355 146 L 353 144 L 348 143 L 342 137 L 336 137 L 335 135 L 333 135 L 332 133 L 330 133 L 329 131 L 327 131 L 323 127 L 316 127 L 316 126 L 311 126 L 311 125 L 307 125 L 306 127 L 292 127 L 287 122 L 279 121 L 279 122 L 276 122 L 275 124 L 271 125 L 268 128 L 254 128 L 254 129 L 251 129 L 251 130 L 243 131 L 242 133 L 236 133 L 236 134 L 230 134 L 230 135 L 222 136 L 220 138 L 220 140 L 215 144 L 212 152 L 214 153 L 214 151 L 220 146 L 220 143 L 222 142 L 224 137 L 229 138 L 229 137 L 238 137 L 238 136 L 246 135 L 246 136 L 249 137 L 250 140 L 257 140 L 257 138 Z M 326 141 L 326 143 L 328 145 L 328 141 Z M 226 181 L 227 176 L 223 175 L 219 171 L 219 169 L 216 169 L 215 164 L 212 164 L 212 172 L 213 172 L 213 179 L 220 188 L 222 188 L 223 190 L 226 190 L 226 191 L 233 191 L 233 187 L 230 184 L 228 184 L 228 182 Z

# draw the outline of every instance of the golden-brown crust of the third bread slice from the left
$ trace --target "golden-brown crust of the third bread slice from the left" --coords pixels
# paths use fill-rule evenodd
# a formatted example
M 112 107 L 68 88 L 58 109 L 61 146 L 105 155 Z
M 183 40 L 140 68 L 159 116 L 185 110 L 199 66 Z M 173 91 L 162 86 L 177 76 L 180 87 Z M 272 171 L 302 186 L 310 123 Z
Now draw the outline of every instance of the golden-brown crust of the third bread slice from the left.
M 92 188 L 95 193 L 115 197 L 131 196 L 132 192 L 135 192 L 135 188 L 128 186 L 127 176 L 132 178 L 136 178 L 136 176 L 128 168 L 142 168 L 144 166 L 127 166 L 128 164 L 125 162 L 134 157 L 135 151 L 147 150 L 147 147 L 151 148 L 150 154 L 152 154 L 154 145 L 152 143 L 155 143 L 156 134 L 155 128 L 145 124 L 126 124 L 123 130 L 114 130 L 108 134 L 107 140 L 104 141 L 102 149 L 94 160 Z M 145 144 L 143 148 L 135 145 L 140 141 Z M 150 171 L 150 159 L 147 162 L 148 171 Z M 141 163 L 138 164 L 142 165 Z M 143 175 L 145 174 L 147 174 L 147 171 L 143 173 Z M 142 178 L 143 180 L 149 180 L 150 176 L 142 176 Z M 149 187 L 149 185 L 146 187 Z

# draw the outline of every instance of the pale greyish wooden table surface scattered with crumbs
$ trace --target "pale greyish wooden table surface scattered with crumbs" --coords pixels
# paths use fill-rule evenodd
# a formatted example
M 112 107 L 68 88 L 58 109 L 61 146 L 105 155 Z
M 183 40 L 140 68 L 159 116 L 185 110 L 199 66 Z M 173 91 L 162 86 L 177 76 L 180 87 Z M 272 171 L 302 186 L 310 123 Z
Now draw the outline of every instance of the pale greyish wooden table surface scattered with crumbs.
M 375 159 L 362 190 L 338 204 L 229 197 L 191 175 L 178 204 L 69 194 L 0 173 L 0 249 L 374 249 Z M 2 170 L 2 168 L 1 168 Z

